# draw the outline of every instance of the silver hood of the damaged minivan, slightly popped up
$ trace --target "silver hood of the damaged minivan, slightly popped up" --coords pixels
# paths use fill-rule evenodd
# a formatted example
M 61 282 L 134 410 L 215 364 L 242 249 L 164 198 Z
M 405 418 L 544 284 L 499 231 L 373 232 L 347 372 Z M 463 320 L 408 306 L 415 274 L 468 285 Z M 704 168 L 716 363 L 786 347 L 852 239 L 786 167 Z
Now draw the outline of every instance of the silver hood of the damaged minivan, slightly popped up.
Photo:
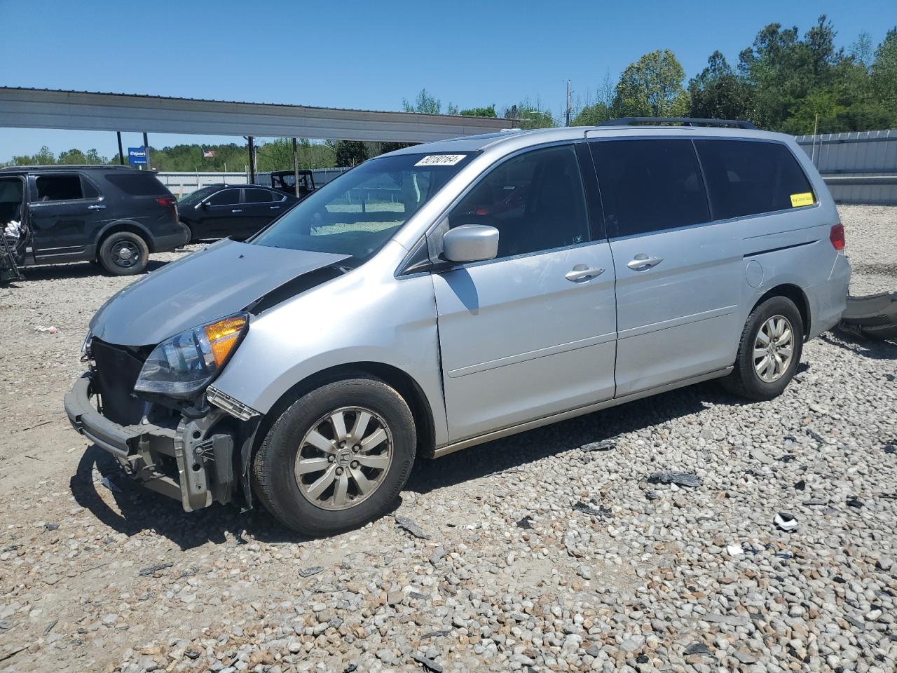
M 109 344 L 156 345 L 348 257 L 220 240 L 115 294 L 93 316 L 91 333 Z

